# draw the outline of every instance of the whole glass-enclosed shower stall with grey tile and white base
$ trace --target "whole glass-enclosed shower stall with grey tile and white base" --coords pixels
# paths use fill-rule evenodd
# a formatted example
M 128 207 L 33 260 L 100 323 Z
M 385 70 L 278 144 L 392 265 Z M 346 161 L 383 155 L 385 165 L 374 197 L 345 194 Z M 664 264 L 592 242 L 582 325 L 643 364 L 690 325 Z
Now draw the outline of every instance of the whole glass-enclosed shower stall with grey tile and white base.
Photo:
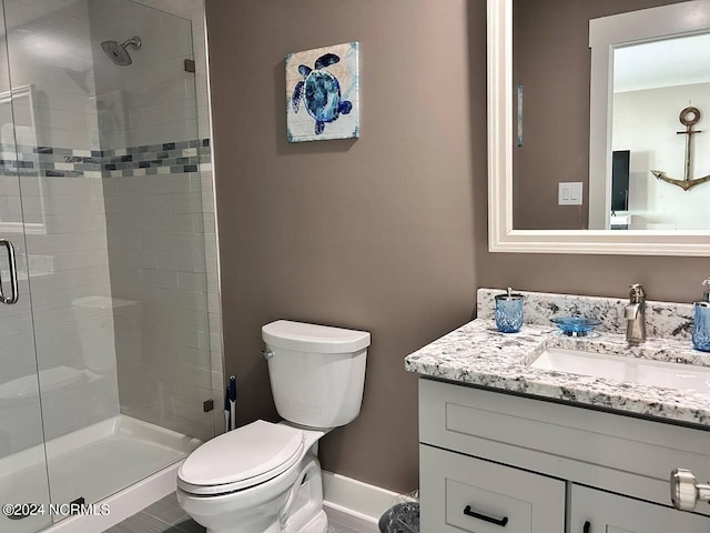
M 171 3 L 0 1 L 0 503 L 45 505 L 3 533 L 215 434 L 204 38 Z

